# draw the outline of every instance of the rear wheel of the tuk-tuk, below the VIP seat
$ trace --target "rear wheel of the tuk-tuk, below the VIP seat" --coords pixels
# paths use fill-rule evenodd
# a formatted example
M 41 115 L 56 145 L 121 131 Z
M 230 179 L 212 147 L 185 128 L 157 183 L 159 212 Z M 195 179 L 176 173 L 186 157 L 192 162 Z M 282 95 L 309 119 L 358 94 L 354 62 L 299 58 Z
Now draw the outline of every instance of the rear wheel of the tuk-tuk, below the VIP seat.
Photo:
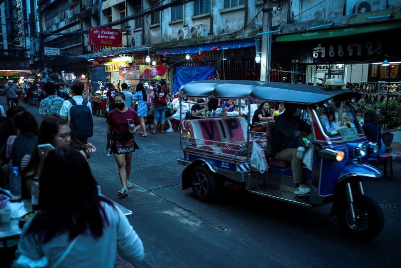
M 192 171 L 192 191 L 203 202 L 214 201 L 218 194 L 216 176 L 207 168 L 198 166 Z

